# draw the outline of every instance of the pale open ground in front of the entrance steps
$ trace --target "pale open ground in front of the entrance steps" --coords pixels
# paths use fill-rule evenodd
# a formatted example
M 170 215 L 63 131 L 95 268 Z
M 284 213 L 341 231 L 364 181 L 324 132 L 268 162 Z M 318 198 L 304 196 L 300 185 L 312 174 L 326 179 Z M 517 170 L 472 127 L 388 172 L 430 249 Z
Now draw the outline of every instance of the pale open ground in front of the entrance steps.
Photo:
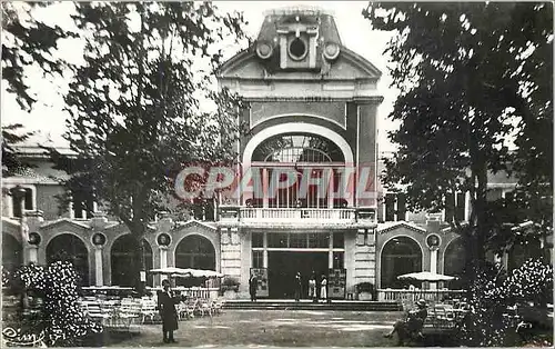
M 181 321 L 175 332 L 179 347 L 394 347 L 383 338 L 398 312 L 228 310 L 214 317 Z M 104 335 L 104 346 L 158 347 L 161 325 L 133 328 L 132 336 Z

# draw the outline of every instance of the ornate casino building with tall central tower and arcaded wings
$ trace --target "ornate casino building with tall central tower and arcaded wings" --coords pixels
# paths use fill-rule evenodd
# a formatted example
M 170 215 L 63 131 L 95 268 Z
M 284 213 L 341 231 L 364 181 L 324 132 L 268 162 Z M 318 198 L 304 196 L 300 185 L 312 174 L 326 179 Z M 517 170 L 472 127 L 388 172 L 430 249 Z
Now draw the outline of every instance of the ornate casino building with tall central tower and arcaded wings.
M 448 198 L 455 202 L 451 211 L 410 212 L 403 193 L 387 193 L 379 182 L 380 159 L 387 156 L 379 152 L 376 138 L 381 76 L 342 44 L 331 13 L 266 13 L 253 46 L 218 74 L 221 87 L 250 103 L 240 120 L 250 132 L 238 150 L 241 168 L 259 176 L 263 193 L 223 195 L 203 210 L 160 217 L 145 237 L 147 267 L 214 269 L 235 277 L 243 297 L 255 272 L 259 296 L 276 299 L 293 298 L 297 271 L 305 285 L 312 273 L 329 276 L 331 296 L 339 299 L 361 282 L 401 288 L 402 273 L 460 273 L 464 253 L 445 222 L 468 217 L 467 196 Z M 125 266 L 135 247 L 128 229 L 88 198 L 73 198 L 60 215 L 54 196 L 62 188 L 51 179 L 48 159 L 33 148 L 20 152 L 36 167 L 2 183 L 18 193 L 2 196 L 3 268 L 47 263 L 65 251 L 84 285 L 131 285 Z M 299 180 L 282 186 L 282 169 Z M 345 172 L 353 173 L 350 186 L 342 185 Z M 311 183 L 329 178 L 330 185 L 304 186 L 303 192 L 306 177 Z M 492 198 L 515 186 L 505 176 L 492 176 L 491 183 Z M 544 247 L 515 247 L 501 261 L 513 268 Z M 158 286 L 160 279 L 147 282 Z

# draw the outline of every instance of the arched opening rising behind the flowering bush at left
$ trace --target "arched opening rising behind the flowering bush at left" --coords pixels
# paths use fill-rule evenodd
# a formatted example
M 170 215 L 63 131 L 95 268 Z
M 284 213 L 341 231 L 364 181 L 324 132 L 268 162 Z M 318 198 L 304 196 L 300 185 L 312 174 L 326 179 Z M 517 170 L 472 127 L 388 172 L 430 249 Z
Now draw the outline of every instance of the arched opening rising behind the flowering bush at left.
M 47 246 L 47 263 L 68 260 L 73 263 L 79 276 L 79 286 L 89 286 L 89 251 L 84 242 L 71 233 L 62 233 L 50 240 Z

